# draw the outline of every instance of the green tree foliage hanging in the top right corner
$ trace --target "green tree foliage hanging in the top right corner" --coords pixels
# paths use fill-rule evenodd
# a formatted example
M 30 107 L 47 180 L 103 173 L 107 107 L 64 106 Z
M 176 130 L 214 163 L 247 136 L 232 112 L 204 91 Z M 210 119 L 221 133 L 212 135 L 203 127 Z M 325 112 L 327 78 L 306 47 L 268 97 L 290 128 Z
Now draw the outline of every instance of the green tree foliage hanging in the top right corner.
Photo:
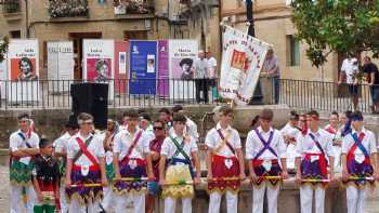
M 379 0 L 292 0 L 297 38 L 316 67 L 329 53 L 379 56 Z

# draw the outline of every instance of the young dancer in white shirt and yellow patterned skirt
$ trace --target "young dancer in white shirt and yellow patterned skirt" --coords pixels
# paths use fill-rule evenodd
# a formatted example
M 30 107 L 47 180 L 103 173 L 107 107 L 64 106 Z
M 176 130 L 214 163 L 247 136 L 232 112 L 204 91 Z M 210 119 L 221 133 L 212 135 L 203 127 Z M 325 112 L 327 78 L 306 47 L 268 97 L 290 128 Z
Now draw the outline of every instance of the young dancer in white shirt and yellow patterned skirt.
M 183 115 L 174 115 L 174 132 L 161 145 L 159 182 L 162 186 L 165 213 L 175 212 L 178 199 L 182 200 L 182 212 L 191 213 L 192 198 L 195 195 L 193 184 L 200 182 L 198 148 L 193 137 L 184 135 L 185 121 Z

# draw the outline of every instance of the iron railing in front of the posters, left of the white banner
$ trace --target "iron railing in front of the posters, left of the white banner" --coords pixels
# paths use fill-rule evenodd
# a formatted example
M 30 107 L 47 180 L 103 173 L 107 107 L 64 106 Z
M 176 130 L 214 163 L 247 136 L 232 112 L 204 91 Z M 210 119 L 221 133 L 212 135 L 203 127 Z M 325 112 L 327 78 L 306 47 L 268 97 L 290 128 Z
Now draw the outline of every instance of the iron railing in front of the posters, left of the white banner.
M 71 84 L 82 80 L 0 81 L 1 108 L 70 108 Z M 217 104 L 217 90 L 196 80 L 113 79 L 108 84 L 108 107 Z M 208 88 L 208 101 L 196 91 Z M 202 89 L 201 89 L 202 91 Z

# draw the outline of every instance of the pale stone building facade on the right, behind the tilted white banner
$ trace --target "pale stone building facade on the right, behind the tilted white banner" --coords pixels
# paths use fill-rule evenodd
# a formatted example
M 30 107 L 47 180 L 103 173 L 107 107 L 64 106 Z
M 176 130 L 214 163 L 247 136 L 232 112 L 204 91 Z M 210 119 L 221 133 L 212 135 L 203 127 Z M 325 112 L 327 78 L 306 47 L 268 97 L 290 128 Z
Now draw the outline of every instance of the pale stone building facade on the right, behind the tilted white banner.
M 312 66 L 306 58 L 306 44 L 295 40 L 296 29 L 291 22 L 289 0 L 256 0 L 256 36 L 274 45 L 282 70 L 282 78 L 301 80 L 337 81 L 339 61 L 337 54 L 330 54 L 323 71 Z M 225 23 L 247 30 L 246 8 L 241 0 L 222 1 L 221 17 Z

